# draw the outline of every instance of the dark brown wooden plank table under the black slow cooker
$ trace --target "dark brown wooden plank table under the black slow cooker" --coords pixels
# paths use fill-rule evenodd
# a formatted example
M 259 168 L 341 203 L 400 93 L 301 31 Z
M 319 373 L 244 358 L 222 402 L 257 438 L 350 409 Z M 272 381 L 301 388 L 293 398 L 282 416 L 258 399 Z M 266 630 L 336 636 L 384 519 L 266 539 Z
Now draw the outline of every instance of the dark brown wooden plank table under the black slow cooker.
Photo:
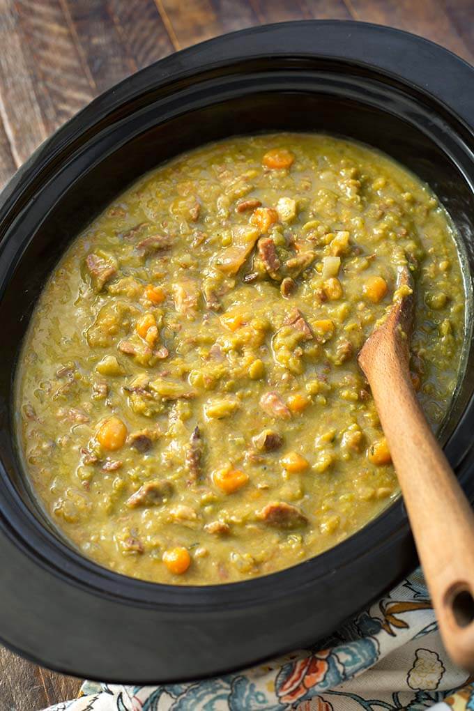
M 126 75 L 224 32 L 310 18 L 392 25 L 474 63 L 473 0 L 0 0 L 0 185 Z M 79 687 L 0 648 L 0 711 L 34 711 Z

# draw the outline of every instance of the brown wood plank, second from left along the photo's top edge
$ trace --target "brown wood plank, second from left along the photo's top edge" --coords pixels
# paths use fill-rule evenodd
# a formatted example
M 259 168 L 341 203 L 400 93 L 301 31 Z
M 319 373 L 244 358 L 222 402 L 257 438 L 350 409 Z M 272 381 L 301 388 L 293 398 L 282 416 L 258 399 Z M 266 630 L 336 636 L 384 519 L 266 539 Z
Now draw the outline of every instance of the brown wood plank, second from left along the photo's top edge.
M 14 0 L 28 70 L 50 134 L 97 93 L 58 0 Z

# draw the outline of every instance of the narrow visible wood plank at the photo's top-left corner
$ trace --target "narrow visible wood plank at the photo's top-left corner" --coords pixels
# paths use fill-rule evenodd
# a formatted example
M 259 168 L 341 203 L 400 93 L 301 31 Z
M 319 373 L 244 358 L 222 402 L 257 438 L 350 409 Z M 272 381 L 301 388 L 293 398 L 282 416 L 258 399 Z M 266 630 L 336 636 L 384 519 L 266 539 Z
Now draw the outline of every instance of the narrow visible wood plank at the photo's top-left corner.
M 0 115 L 19 166 L 48 135 L 26 59 L 27 44 L 10 0 L 0 0 Z

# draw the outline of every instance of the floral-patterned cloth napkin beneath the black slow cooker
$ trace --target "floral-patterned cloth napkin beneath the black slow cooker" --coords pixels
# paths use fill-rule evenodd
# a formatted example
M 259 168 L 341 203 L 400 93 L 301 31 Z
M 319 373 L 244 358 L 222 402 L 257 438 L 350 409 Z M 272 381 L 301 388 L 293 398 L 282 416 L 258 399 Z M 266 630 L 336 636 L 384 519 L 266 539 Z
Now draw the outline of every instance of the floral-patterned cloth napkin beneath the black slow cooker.
M 86 681 L 81 697 L 50 710 L 474 711 L 471 681 L 443 648 L 423 575 L 416 570 L 311 649 L 204 681 L 158 686 Z

